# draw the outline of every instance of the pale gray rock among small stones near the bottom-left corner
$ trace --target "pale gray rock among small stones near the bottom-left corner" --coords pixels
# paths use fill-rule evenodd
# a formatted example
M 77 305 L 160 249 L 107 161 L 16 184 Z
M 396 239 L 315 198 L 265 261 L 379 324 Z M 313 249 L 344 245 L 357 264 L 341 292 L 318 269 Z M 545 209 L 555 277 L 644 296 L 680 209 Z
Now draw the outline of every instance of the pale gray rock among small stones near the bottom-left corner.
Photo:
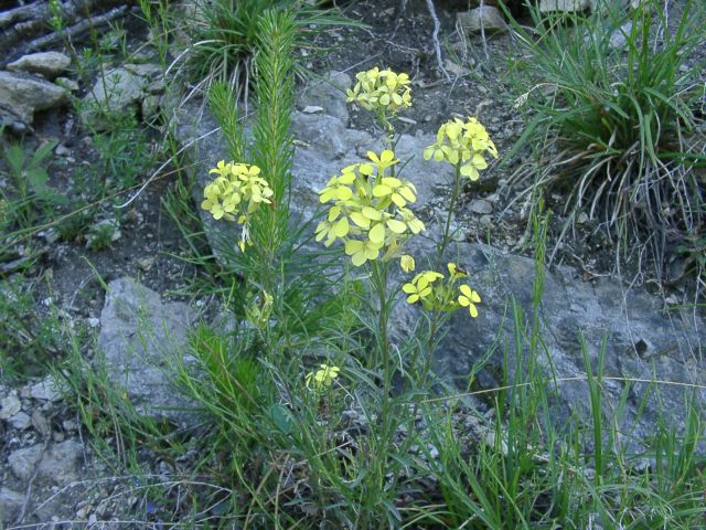
M 81 443 L 67 439 L 46 449 L 43 444 L 17 449 L 8 457 L 8 464 L 13 475 L 21 480 L 28 480 L 36 469 L 38 478 L 64 486 L 78 478 L 82 455 Z

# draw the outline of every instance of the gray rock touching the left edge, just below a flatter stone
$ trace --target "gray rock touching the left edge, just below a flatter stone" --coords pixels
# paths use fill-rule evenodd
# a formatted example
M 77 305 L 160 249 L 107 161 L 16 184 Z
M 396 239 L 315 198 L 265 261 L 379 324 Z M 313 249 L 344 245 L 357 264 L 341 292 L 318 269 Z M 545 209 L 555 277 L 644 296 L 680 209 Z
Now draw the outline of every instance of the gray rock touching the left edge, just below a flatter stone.
M 31 124 L 39 110 L 67 103 L 68 92 L 49 81 L 19 72 L 0 72 L 0 109 L 24 124 Z

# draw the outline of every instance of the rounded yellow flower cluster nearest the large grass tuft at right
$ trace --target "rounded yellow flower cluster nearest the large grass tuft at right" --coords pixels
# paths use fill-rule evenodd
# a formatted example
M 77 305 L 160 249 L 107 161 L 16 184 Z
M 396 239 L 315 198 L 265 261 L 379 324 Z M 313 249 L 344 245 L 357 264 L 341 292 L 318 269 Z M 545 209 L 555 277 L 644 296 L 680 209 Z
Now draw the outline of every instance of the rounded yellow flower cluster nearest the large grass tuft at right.
M 488 168 L 484 152 L 498 158 L 498 149 L 485 127 L 475 118 L 468 118 L 468 121 L 453 118 L 439 127 L 437 142 L 424 150 L 424 158 L 446 161 L 451 166 L 460 163 L 461 174 L 478 180 L 479 171 Z

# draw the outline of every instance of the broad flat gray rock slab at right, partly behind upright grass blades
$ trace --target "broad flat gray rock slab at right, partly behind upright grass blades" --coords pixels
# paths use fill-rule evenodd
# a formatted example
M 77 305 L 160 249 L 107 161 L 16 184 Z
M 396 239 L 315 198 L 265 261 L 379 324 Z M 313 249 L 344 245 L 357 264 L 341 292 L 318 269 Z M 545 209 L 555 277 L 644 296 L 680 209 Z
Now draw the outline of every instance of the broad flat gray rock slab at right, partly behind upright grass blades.
M 422 240 L 413 239 L 408 252 L 420 256 L 428 250 Z M 531 318 L 535 264 L 531 258 L 503 254 L 478 244 L 459 243 L 458 254 L 459 265 L 471 273 L 469 285 L 479 292 L 483 301 L 479 305 L 477 319 L 463 310 L 453 315 L 448 335 L 436 352 L 436 367 L 438 373 L 466 389 L 472 368 L 494 349 L 486 364 L 475 374 L 479 389 L 494 389 L 503 384 L 505 344 L 510 380 L 515 370 L 526 368 L 517 361 L 513 346 L 512 300 L 523 307 L 525 320 Z M 395 333 L 404 336 L 404 330 L 411 329 L 417 312 L 406 304 L 399 304 L 396 311 Z M 616 280 L 602 278 L 596 283 L 584 283 L 580 272 L 559 267 L 546 274 L 539 319 L 546 350 L 539 351 L 538 363 L 546 375 L 554 371 L 557 379 L 585 378 L 579 340 L 579 333 L 582 333 L 593 369 L 601 341 L 605 336 L 608 338 L 607 378 L 706 384 L 706 360 L 700 353 L 700 344 L 706 340 L 706 322 L 693 314 L 670 312 L 664 316 L 660 300 L 638 288 L 624 294 Z M 524 354 L 527 353 L 524 344 Z M 547 384 L 550 388 L 552 417 L 557 424 L 569 417 L 589 421 L 585 381 L 564 381 L 554 385 L 549 378 Z M 603 381 L 602 399 L 609 417 L 612 417 L 624 388 L 623 381 Z M 696 405 L 703 407 L 706 390 L 687 389 L 686 395 L 692 392 Z M 677 385 L 631 384 L 627 407 L 620 418 L 623 433 L 635 443 L 646 439 L 654 433 L 654 422 L 660 413 L 676 428 L 683 426 L 686 417 L 684 398 L 685 390 Z

